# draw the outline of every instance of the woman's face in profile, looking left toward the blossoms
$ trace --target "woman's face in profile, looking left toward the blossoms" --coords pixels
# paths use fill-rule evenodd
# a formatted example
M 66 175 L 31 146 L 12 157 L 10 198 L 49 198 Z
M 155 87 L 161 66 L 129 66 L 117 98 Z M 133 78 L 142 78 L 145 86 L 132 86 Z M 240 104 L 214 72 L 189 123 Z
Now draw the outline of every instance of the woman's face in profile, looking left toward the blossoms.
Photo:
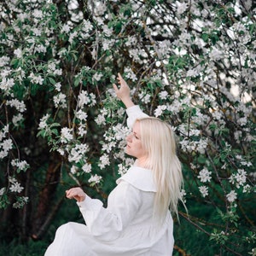
M 147 153 L 143 148 L 141 140 L 141 127 L 137 121 L 132 128 L 131 134 L 126 137 L 126 154 L 136 157 L 138 160 L 146 160 Z

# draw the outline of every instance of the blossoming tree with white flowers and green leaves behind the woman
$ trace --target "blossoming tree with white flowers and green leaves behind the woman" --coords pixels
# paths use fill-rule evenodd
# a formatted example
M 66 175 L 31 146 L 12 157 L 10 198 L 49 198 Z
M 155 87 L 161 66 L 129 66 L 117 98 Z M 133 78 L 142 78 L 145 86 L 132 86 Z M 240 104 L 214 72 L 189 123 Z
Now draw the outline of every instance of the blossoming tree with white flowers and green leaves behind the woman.
M 0 7 L 3 224 L 20 208 L 20 236 L 40 238 L 67 179 L 108 194 L 104 184 L 113 187 L 131 165 L 125 108 L 112 90 L 120 72 L 134 102 L 177 134 L 188 210 L 211 212 L 188 215 L 181 206 L 180 215 L 215 253 L 253 253 L 255 3 L 3 0 Z M 182 237 L 181 247 L 193 252 Z

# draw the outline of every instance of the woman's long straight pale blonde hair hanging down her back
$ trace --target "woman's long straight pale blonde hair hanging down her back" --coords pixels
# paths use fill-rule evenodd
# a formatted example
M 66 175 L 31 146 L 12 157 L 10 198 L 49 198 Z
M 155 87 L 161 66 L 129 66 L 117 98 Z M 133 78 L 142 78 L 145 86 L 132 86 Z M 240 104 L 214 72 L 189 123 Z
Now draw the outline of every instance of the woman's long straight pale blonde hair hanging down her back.
M 154 117 L 137 121 L 140 123 L 143 148 L 148 153 L 145 167 L 154 172 L 157 187 L 154 214 L 164 218 L 170 209 L 177 215 L 177 203 L 182 200 L 183 175 L 172 127 Z

